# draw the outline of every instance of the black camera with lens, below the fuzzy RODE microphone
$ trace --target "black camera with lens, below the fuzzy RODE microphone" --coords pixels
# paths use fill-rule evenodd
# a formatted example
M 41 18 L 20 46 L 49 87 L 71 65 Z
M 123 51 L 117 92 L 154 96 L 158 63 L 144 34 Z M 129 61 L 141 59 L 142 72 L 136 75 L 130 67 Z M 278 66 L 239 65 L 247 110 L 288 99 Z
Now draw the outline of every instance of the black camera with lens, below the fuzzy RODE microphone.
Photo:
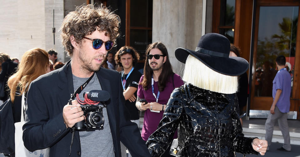
M 82 106 L 83 115 L 85 119 L 75 123 L 74 129 L 78 131 L 95 131 L 103 130 L 104 117 L 102 108 L 94 105 Z

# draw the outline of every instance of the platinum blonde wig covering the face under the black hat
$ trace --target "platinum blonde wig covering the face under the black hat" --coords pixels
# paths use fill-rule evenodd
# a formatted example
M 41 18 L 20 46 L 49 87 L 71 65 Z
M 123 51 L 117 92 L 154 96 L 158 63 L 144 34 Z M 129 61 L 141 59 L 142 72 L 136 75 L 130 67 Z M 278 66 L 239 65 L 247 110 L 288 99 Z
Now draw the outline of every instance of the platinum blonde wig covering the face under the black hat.
M 192 55 L 188 55 L 183 81 L 212 92 L 232 94 L 238 90 L 238 76 L 220 74 Z

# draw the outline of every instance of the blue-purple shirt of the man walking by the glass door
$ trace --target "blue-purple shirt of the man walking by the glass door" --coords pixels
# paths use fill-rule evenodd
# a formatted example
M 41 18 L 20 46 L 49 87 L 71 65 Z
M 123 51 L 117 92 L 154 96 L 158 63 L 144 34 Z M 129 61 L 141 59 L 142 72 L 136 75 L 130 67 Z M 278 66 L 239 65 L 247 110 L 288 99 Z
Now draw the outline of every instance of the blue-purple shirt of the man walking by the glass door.
M 282 113 L 287 113 L 290 111 L 290 96 L 291 96 L 291 75 L 285 68 L 280 69 L 274 80 L 272 96 L 273 101 L 276 95 L 277 89 L 282 90 L 276 106 Z

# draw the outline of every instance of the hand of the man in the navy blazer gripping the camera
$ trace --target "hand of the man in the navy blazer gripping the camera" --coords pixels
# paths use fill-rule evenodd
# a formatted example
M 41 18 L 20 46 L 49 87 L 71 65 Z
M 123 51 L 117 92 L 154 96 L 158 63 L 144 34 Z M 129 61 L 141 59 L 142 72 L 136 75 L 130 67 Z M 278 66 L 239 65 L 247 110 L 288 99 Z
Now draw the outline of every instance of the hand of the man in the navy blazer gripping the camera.
M 83 120 L 83 111 L 77 100 L 73 100 L 72 105 L 67 104 L 63 107 L 63 121 L 67 128 L 71 128 L 75 125 L 75 123 Z

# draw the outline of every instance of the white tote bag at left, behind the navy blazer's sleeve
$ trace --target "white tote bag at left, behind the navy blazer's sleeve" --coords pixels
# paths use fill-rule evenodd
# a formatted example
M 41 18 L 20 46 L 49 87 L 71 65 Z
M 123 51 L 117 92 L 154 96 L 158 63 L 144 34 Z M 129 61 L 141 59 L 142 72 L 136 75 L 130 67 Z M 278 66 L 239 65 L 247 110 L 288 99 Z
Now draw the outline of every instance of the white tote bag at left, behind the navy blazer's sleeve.
M 24 92 L 25 93 L 25 92 Z M 15 156 L 19 157 L 49 157 L 49 148 L 43 150 L 36 150 L 34 152 L 28 151 L 23 143 L 23 125 L 24 125 L 24 108 L 25 96 L 22 94 L 22 109 L 21 109 L 21 122 L 15 123 Z

